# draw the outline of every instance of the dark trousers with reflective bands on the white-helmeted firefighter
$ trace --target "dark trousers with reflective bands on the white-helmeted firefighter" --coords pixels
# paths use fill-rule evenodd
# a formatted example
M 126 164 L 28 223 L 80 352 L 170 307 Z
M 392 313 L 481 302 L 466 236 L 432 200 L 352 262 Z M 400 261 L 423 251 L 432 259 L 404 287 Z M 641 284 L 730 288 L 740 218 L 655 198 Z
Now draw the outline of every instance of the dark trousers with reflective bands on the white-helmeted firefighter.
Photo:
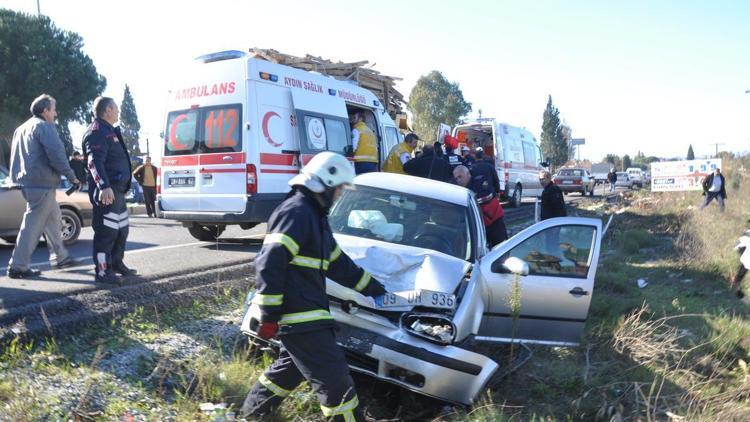
M 344 351 L 333 329 L 279 336 L 278 359 L 258 378 L 240 414 L 246 418 L 269 415 L 303 381 L 312 387 L 326 420 L 364 421 Z

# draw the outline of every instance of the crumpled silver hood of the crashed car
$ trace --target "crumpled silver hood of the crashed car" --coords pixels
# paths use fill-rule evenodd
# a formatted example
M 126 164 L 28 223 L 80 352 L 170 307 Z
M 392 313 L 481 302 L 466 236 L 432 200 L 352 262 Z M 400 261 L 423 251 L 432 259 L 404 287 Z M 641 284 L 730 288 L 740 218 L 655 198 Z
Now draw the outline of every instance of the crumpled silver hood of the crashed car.
M 471 268 L 462 259 L 430 249 L 339 234 L 335 238 L 341 250 L 389 292 L 424 289 L 453 293 Z M 331 280 L 327 291 L 339 299 L 361 302 L 362 295 Z

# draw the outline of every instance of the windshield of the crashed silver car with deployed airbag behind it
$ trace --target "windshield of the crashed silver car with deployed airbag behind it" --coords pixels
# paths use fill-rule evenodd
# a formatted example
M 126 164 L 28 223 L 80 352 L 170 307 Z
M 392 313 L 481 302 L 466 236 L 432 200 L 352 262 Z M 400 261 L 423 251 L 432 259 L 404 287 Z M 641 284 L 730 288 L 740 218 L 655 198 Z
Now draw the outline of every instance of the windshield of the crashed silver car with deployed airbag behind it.
M 468 207 L 401 192 L 357 186 L 331 209 L 334 233 L 432 249 L 471 260 Z

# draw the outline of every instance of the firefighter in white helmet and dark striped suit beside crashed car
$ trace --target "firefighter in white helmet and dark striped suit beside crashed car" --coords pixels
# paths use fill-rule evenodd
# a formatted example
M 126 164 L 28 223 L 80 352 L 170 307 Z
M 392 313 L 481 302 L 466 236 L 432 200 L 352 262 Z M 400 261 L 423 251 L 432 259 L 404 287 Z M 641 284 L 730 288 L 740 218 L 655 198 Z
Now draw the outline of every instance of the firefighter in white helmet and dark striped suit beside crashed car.
M 281 350 L 248 393 L 241 410 L 245 417 L 269 415 L 307 380 L 327 418 L 364 420 L 344 352 L 336 344 L 325 284 L 328 277 L 365 296 L 385 293 L 341 251 L 328 225 L 329 209 L 353 179 L 346 158 L 322 152 L 289 181 L 290 197 L 268 220 L 255 260 L 252 301 L 261 309 L 258 336 L 278 335 Z

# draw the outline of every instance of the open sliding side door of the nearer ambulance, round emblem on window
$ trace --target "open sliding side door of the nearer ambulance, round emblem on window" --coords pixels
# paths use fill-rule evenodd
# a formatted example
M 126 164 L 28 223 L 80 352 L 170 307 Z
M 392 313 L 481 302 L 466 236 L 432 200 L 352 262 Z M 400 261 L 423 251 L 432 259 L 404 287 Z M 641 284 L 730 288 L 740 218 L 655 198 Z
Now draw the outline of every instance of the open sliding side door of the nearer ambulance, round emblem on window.
M 312 96 L 296 90 L 292 90 L 292 101 L 302 165 L 322 151 L 351 155 L 351 128 L 344 101 L 333 95 Z

